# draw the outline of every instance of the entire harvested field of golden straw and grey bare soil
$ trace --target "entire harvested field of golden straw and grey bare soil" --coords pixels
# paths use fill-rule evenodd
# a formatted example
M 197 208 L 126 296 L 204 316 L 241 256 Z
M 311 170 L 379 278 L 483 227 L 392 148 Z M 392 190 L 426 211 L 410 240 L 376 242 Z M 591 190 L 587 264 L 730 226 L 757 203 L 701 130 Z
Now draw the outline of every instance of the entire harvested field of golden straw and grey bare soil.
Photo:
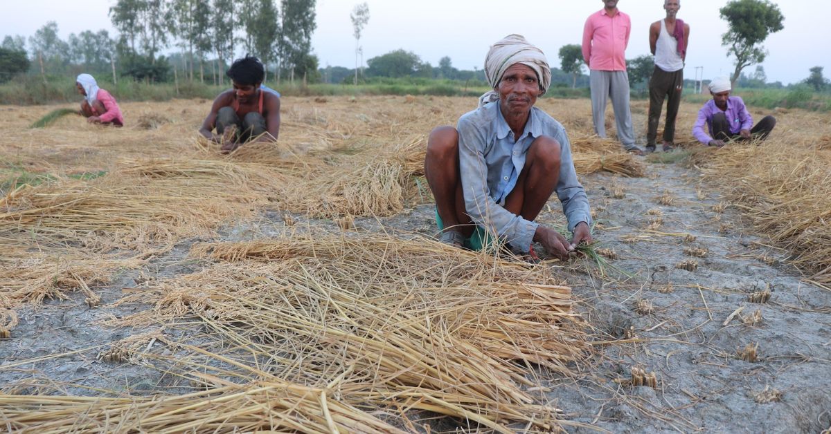
M 433 241 L 426 136 L 475 102 L 284 98 L 278 144 L 230 155 L 206 100 L 125 103 L 123 129 L 0 107 L 0 426 L 831 427 L 828 115 L 703 149 L 684 104 L 682 149 L 640 158 L 588 100 L 539 100 L 598 244 L 530 265 Z

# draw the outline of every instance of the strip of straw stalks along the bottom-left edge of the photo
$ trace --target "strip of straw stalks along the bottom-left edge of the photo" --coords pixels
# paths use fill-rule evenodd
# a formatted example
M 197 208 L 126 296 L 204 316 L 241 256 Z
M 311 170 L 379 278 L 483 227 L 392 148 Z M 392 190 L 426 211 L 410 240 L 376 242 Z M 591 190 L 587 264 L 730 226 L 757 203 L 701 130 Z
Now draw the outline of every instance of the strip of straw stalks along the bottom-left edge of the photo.
M 0 394 L 12 432 L 403 432 L 332 397 L 291 383 L 228 385 L 177 397 L 52 397 Z

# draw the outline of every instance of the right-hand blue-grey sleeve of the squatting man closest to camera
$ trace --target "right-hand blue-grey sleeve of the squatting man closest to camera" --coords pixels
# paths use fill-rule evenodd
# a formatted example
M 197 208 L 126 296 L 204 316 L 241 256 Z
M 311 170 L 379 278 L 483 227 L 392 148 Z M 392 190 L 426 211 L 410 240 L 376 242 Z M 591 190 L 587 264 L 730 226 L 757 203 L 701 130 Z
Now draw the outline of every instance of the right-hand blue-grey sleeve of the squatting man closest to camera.
M 577 178 L 574 169 L 571 144 L 564 129 L 554 134 L 560 144 L 560 178 L 557 182 L 557 197 L 563 203 L 563 214 L 568 219 L 568 231 L 574 232 L 581 222 L 592 226 L 592 212 L 588 206 L 586 190 Z

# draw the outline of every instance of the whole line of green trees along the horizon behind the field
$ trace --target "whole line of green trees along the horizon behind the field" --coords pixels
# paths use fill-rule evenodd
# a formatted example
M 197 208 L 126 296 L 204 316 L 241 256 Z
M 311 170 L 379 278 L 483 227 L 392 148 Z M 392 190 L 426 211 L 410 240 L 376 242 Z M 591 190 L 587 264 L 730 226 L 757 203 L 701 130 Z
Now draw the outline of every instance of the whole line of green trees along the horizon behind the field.
M 66 41 L 58 37 L 56 22 L 47 22 L 31 37 L 6 36 L 0 45 L 0 82 L 15 74 L 42 76 L 77 74 L 81 71 L 112 77 L 160 82 L 199 80 L 219 85 L 224 71 L 238 53 L 258 56 L 267 66 L 269 80 L 322 81 L 358 84 L 385 79 L 444 79 L 464 81 L 465 85 L 487 85 L 484 71 L 460 70 L 450 57 L 438 66 L 422 61 L 416 53 L 403 49 L 375 56 L 363 64 L 361 34 L 369 22 L 366 2 L 357 4 L 350 14 L 355 37 L 355 68 L 318 67 L 312 54 L 312 32 L 316 0 L 117 0 L 109 15 L 118 34 L 106 30 L 71 34 Z M 733 0 L 720 9 L 728 23 L 722 36 L 728 56 L 735 57 L 734 85 L 744 88 L 785 87 L 768 83 L 764 67 L 767 51 L 762 43 L 783 28 L 779 8 L 767 0 Z M 160 53 L 176 48 L 168 56 Z M 554 87 L 588 87 L 588 76 L 581 47 L 566 45 L 558 51 L 560 67 L 552 68 Z M 360 61 L 359 61 L 360 59 Z M 757 65 L 746 74 L 747 66 Z M 645 93 L 652 76 L 652 56 L 627 60 L 632 90 Z M 181 74 L 181 75 L 179 75 Z M 271 74 L 271 76 L 268 76 Z M 173 77 L 171 77 L 171 75 Z M 685 80 L 685 87 L 695 86 Z M 800 85 L 816 91 L 829 90 L 823 68 L 815 66 Z

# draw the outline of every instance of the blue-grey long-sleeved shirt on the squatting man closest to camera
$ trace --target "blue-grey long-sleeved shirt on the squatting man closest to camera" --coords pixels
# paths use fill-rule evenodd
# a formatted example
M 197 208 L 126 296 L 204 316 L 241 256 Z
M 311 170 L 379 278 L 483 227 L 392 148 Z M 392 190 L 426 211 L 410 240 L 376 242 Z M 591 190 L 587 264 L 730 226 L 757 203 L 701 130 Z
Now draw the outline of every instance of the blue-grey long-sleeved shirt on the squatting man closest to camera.
M 539 136 L 556 139 L 560 144 L 560 178 L 557 197 L 568 218 L 568 230 L 580 222 L 592 224 L 588 197 L 577 178 L 568 136 L 557 120 L 531 108 L 525 130 L 519 139 L 508 126 L 495 101 L 466 113 L 459 119 L 459 165 L 465 209 L 477 224 L 490 233 L 504 237 L 519 251 L 528 251 L 538 223 L 504 209 L 505 197 L 516 186 L 525 166 L 528 149 Z

